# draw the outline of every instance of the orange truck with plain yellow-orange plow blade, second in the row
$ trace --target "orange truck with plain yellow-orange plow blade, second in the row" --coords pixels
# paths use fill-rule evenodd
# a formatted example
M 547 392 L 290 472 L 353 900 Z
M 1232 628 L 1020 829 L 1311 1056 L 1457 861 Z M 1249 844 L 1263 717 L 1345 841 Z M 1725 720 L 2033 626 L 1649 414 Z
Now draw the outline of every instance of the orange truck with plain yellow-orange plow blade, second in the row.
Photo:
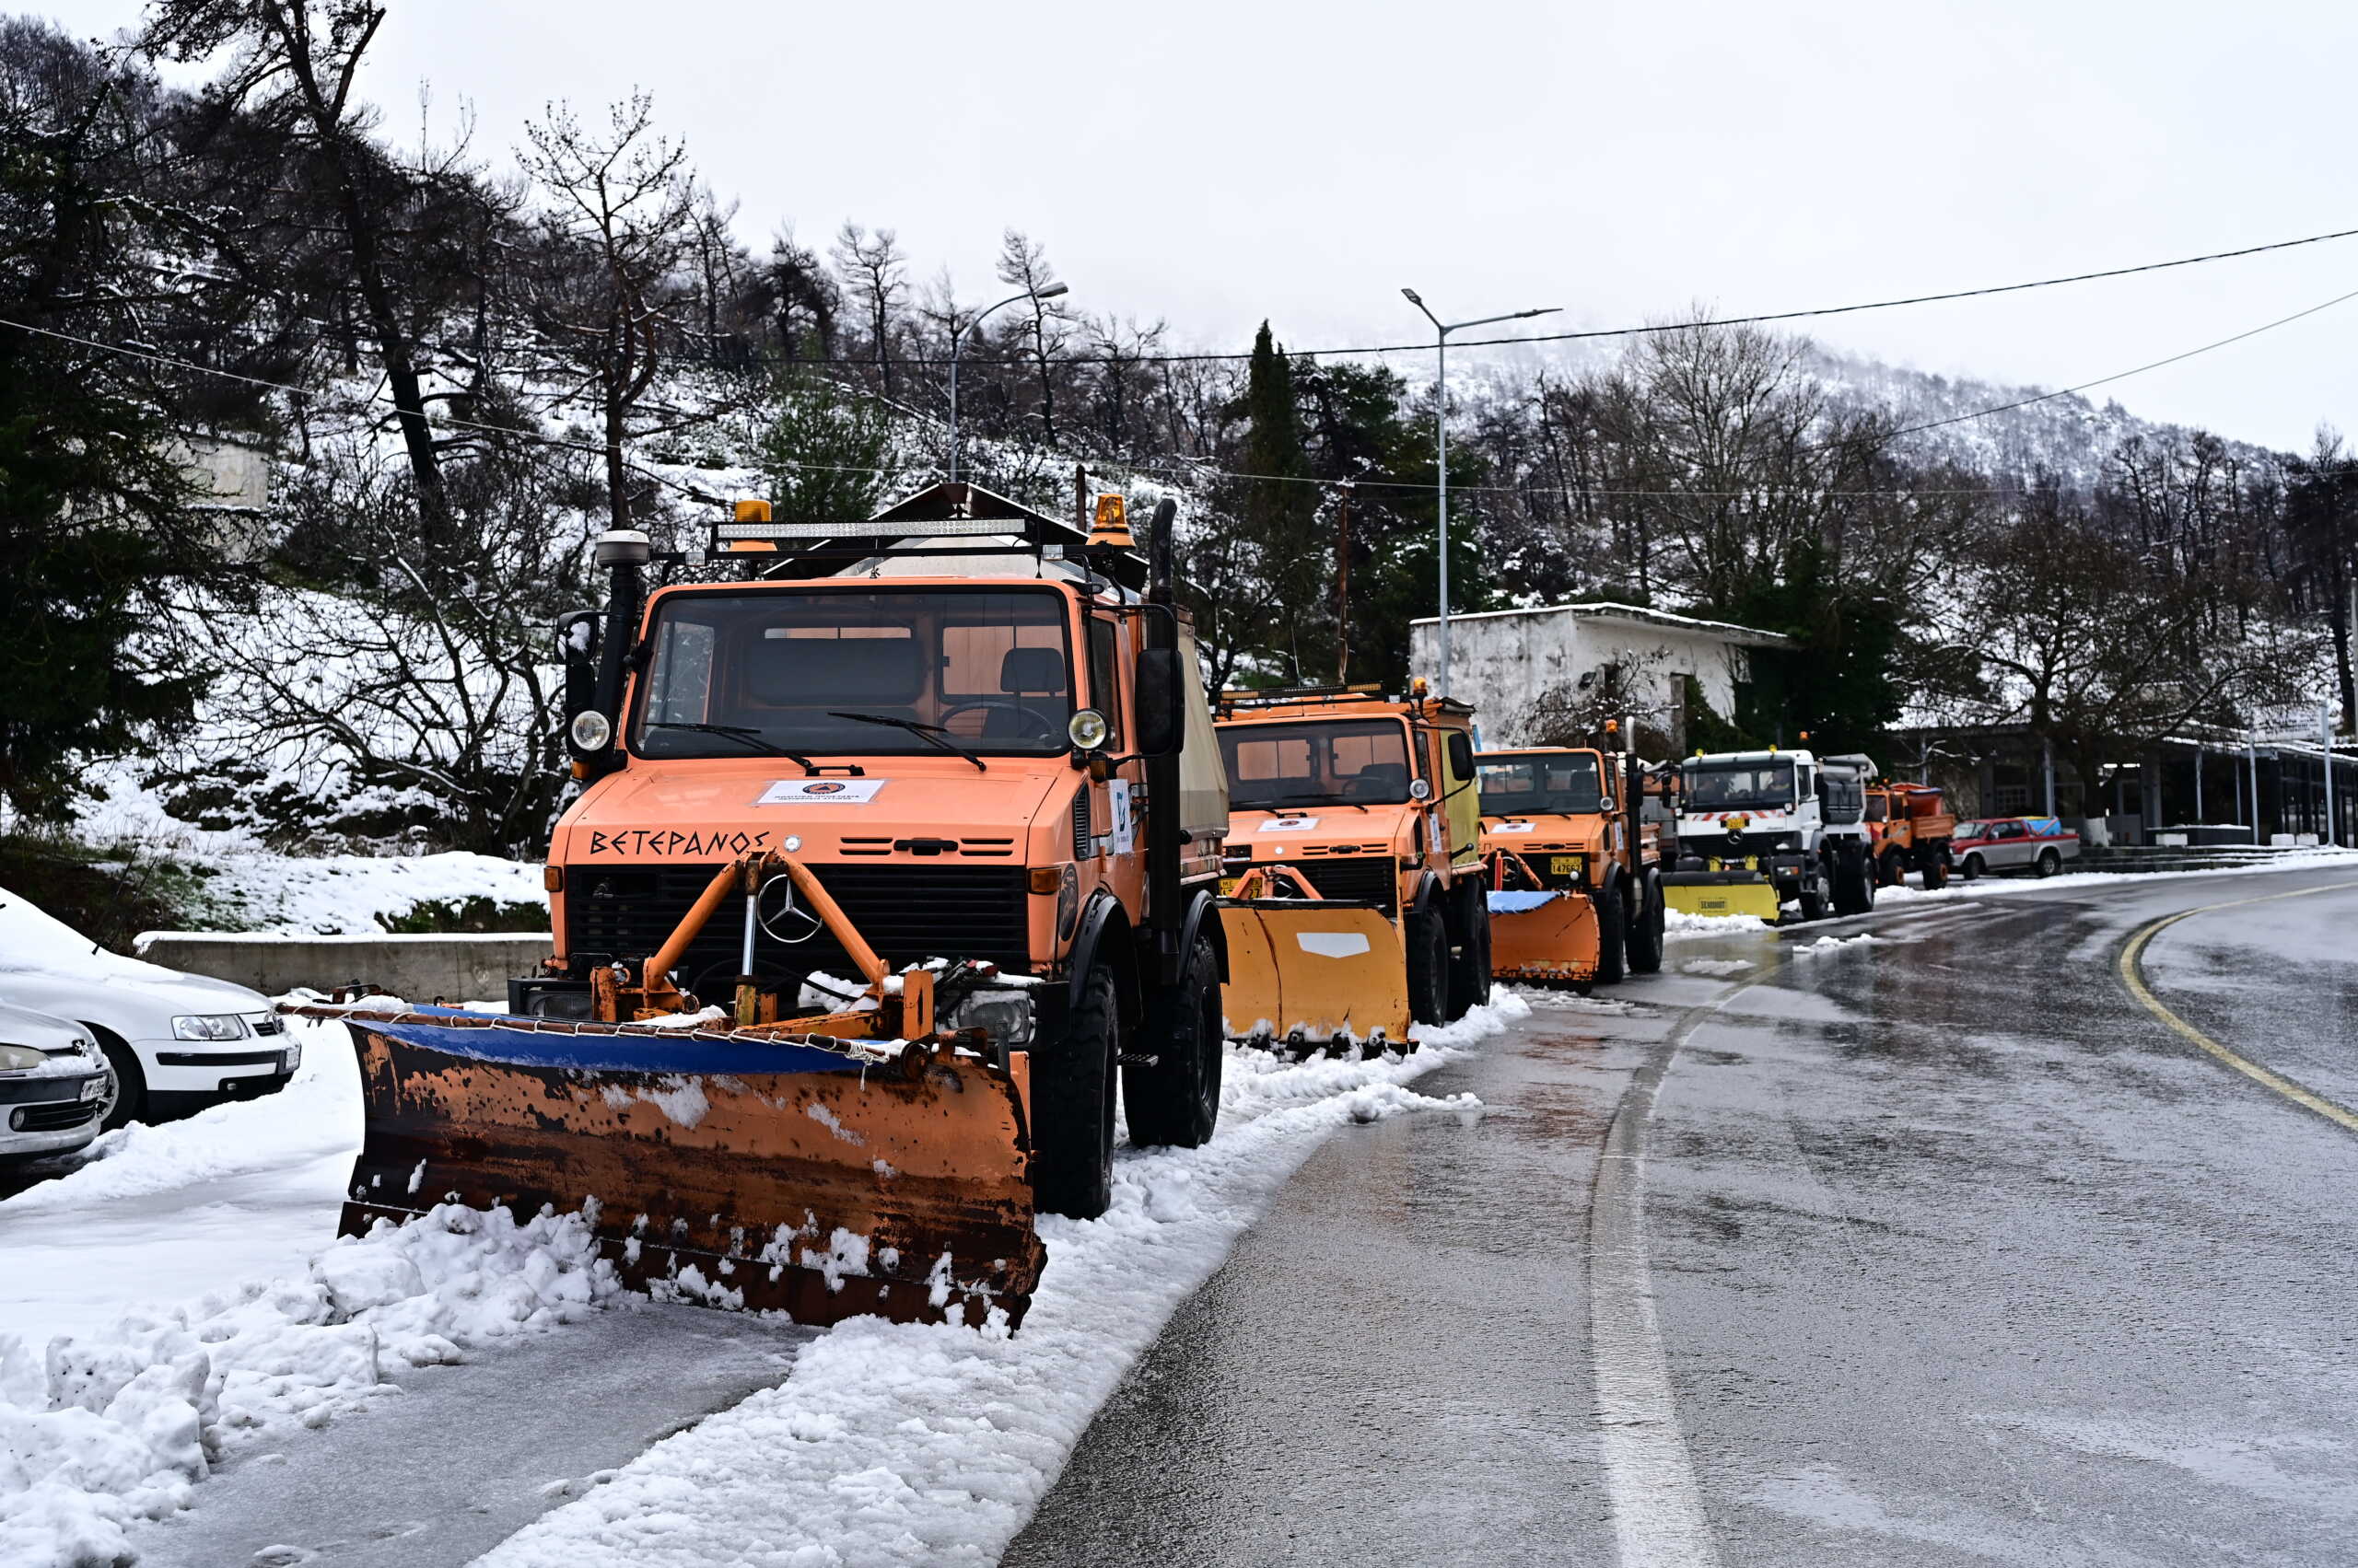
M 1471 707 L 1375 686 L 1229 691 L 1229 1035 L 1408 1047 L 1490 997 Z

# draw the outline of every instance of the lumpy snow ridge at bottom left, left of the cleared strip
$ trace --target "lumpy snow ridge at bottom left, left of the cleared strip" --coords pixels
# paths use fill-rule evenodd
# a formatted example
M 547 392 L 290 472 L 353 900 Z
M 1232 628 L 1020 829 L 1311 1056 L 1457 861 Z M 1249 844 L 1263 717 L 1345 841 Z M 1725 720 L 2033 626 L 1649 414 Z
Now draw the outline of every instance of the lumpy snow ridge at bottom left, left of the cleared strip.
M 33 1351 L 0 1337 L 0 1561 L 127 1561 L 233 1445 L 399 1394 L 406 1368 L 571 1323 L 620 1285 L 580 1217 L 439 1207 L 250 1280 Z

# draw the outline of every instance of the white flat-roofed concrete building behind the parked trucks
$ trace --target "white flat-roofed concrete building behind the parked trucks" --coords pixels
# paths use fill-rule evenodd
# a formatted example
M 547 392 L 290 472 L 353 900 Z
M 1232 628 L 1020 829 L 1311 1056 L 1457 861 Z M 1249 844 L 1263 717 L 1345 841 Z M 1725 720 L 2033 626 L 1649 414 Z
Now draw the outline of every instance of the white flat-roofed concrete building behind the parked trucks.
M 1410 670 L 1441 665 L 1438 627 L 1410 625 Z M 1578 608 L 1450 615 L 1450 696 L 1474 705 L 1483 745 L 1533 745 L 1530 705 L 1554 686 L 1573 686 L 1603 665 L 1646 667 L 1641 703 L 1684 717 L 1684 677 L 1721 719 L 1735 712 L 1735 681 L 1752 679 L 1752 653 L 1707 627 L 1651 625 Z M 1674 729 L 1660 714 L 1648 724 Z M 1672 736 L 1684 745 L 1686 736 Z

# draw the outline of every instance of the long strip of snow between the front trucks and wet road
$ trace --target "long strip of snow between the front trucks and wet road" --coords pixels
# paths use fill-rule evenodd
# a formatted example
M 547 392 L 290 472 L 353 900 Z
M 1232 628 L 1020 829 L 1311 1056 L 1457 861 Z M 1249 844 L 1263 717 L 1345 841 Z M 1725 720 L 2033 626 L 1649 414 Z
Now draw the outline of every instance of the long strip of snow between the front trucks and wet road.
M 483 1568 L 993 1563 L 1096 1408 L 1328 1132 L 1361 1111 L 1453 1108 L 1405 1085 L 1528 1007 L 1511 990 L 1420 1030 L 1408 1059 L 1226 1059 L 1219 1134 L 1122 1151 L 1104 1219 L 1042 1219 L 1019 1335 L 856 1318 L 776 1389 L 646 1450 Z M 1389 1111 L 1387 1111 L 1389 1113 Z

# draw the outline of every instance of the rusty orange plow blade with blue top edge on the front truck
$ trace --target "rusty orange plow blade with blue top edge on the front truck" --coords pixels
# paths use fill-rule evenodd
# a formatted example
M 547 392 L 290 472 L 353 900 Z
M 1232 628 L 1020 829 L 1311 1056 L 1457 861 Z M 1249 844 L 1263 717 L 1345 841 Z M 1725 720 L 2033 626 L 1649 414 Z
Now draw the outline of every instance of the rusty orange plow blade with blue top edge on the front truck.
M 342 1231 L 436 1203 L 580 1212 L 658 1299 L 1021 1323 L 1028 1056 L 415 1009 L 342 1016 L 365 1134 Z

